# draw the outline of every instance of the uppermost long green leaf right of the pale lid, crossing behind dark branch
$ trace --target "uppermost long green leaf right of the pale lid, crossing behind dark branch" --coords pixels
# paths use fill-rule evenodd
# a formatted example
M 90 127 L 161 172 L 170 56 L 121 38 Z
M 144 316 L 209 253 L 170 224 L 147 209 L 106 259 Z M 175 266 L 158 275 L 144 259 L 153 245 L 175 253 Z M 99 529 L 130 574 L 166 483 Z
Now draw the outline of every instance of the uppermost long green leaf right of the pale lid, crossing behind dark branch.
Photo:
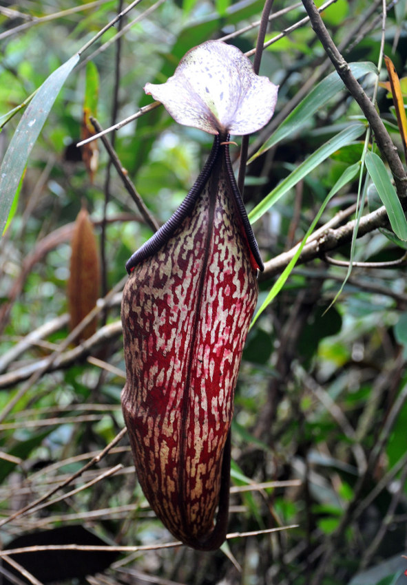
M 356 78 L 366 75 L 366 73 L 377 74 L 377 67 L 368 61 L 366 61 L 366 63 L 351 63 L 350 67 Z M 341 89 L 344 89 L 344 84 L 337 72 L 333 72 L 326 76 L 326 78 L 322 79 L 322 81 L 315 85 L 311 92 L 298 104 L 298 106 L 291 111 L 291 114 L 285 118 L 284 122 L 282 122 L 278 129 L 271 134 L 269 140 L 264 142 L 264 145 L 251 157 L 249 162 L 277 144 L 277 142 L 280 142 L 280 140 L 286 136 L 298 131 L 298 129 L 304 125 L 306 120 L 311 118 L 311 116 L 313 116 L 318 109 L 328 103 L 331 98 L 335 97 Z

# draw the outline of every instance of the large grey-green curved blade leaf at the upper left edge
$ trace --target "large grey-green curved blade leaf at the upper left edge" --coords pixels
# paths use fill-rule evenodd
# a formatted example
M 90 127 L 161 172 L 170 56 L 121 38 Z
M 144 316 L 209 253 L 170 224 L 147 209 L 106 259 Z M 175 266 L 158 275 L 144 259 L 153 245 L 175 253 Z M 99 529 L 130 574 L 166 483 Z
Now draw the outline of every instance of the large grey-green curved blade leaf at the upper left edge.
M 27 164 L 32 147 L 41 132 L 50 109 L 65 79 L 79 61 L 76 54 L 63 63 L 41 85 L 28 105 L 0 167 L 0 232 L 6 226 L 14 195 Z

